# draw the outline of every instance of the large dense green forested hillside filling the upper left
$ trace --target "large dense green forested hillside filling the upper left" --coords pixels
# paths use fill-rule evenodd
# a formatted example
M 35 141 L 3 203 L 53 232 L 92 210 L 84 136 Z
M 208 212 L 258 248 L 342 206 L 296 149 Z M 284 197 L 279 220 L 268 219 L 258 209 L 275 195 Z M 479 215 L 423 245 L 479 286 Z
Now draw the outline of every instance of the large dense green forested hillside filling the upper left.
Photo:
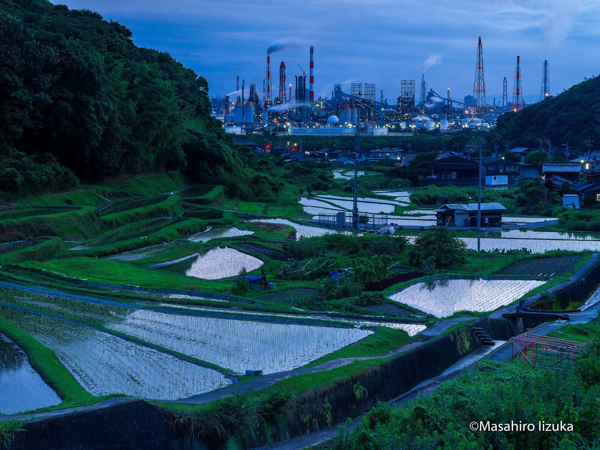
M 206 80 L 168 53 L 93 11 L 0 5 L 0 190 L 169 169 L 226 185 L 252 175 L 209 115 Z

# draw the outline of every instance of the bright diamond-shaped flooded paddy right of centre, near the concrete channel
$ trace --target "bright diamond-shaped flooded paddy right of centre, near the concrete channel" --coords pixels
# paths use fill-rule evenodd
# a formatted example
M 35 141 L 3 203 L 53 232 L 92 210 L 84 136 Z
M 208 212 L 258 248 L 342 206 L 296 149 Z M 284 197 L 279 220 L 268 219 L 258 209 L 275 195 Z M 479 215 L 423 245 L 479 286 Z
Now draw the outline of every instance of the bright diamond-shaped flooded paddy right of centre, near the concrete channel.
M 436 317 L 457 311 L 493 311 L 511 304 L 544 281 L 535 280 L 434 280 L 415 283 L 390 299 Z

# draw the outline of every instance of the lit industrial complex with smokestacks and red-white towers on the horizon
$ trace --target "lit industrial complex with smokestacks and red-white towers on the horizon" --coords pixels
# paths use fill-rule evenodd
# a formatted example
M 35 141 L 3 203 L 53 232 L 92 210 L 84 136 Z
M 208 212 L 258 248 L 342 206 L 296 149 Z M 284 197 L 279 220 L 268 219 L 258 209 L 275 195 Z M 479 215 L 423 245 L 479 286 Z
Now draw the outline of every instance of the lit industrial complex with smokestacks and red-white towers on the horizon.
M 248 87 L 245 80 L 236 83 L 235 98 L 228 95 L 211 98 L 212 115 L 223 122 L 227 133 L 242 134 L 255 131 L 277 131 L 292 135 L 349 136 L 386 135 L 390 126 L 401 133 L 419 130 L 438 130 L 452 133 L 463 128 L 486 130 L 494 127 L 496 119 L 510 110 L 519 111 L 526 105 L 521 89 L 520 56 L 516 57 L 512 101 L 508 101 L 507 80 L 503 80 L 502 100 L 491 103 L 485 95 L 482 41 L 477 43 L 473 95 L 454 100 L 450 89 L 438 94 L 427 90 L 425 74 L 421 76 L 419 98 L 415 98 L 415 80 L 401 80 L 400 95 L 396 104 L 389 104 L 381 89 L 376 100 L 375 83 L 351 83 L 350 92 L 342 90 L 341 83 L 334 85 L 331 97 L 315 98 L 314 47 L 310 47 L 310 66 L 307 74 L 299 63 L 299 75 L 286 76 L 286 63 L 280 62 L 277 96 L 273 97 L 271 55 L 266 57 L 266 74 L 262 96 L 256 83 Z M 550 95 L 548 61 L 544 61 L 540 100 Z M 400 130 L 398 130 L 400 128 Z

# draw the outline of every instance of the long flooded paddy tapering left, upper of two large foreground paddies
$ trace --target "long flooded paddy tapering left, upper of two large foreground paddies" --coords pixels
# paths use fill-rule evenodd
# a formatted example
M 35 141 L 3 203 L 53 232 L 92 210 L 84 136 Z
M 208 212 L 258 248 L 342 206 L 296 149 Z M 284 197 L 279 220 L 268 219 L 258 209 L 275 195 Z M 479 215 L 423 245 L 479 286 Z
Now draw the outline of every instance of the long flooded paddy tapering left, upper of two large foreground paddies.
M 241 373 L 263 370 L 267 374 L 300 367 L 372 333 L 340 326 L 167 313 L 29 291 L 5 289 L 4 292 L 17 292 L 8 299 L 14 304 L 54 314 L 68 312 L 71 317 L 94 320 L 106 328 Z

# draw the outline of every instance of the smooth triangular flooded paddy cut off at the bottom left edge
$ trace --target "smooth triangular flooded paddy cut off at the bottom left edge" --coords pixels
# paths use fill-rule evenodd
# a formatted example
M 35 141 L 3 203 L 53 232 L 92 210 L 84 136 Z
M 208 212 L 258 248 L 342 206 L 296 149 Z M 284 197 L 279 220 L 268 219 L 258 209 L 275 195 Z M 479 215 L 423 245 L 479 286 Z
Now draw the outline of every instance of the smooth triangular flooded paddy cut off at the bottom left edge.
M 0 413 L 14 414 L 61 401 L 31 367 L 25 352 L 0 334 Z

